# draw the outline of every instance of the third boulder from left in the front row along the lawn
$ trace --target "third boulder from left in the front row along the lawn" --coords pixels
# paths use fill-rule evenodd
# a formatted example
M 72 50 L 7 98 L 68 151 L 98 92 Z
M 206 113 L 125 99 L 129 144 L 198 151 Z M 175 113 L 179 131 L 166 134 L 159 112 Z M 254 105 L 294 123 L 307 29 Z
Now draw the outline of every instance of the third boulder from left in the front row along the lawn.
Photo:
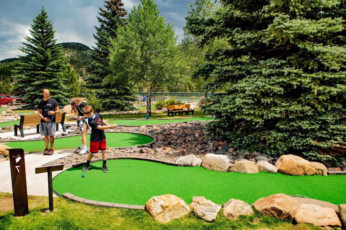
M 236 220 L 240 215 L 252 216 L 254 211 L 245 201 L 230 199 L 224 204 L 224 211 L 222 214 L 228 219 Z

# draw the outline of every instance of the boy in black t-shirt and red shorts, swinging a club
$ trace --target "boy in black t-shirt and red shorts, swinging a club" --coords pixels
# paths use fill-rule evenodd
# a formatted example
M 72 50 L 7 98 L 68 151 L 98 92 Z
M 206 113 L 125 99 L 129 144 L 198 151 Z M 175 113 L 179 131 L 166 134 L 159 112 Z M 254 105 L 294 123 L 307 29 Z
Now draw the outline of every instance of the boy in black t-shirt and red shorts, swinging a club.
M 115 128 L 117 124 L 108 124 L 106 121 L 102 119 L 100 114 L 94 113 L 94 110 L 91 106 L 84 106 L 83 108 L 84 117 L 88 118 L 88 124 L 91 127 L 90 134 L 90 150 L 88 153 L 88 158 L 86 160 L 86 164 L 83 167 L 82 171 L 86 171 L 90 168 L 90 161 L 94 153 L 97 153 L 101 150 L 102 153 L 102 171 L 108 172 L 108 168 L 106 165 L 107 153 L 106 153 L 106 136 L 104 135 L 105 129 Z

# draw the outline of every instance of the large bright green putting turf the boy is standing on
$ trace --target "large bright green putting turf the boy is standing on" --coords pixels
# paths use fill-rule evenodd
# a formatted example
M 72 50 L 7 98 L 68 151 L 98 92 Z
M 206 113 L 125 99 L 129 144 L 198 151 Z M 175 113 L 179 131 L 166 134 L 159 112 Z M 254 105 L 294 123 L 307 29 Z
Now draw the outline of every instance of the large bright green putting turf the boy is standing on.
M 107 173 L 102 172 L 102 161 L 91 163 L 85 172 L 83 166 L 67 169 L 54 178 L 53 188 L 59 194 L 70 192 L 90 200 L 137 205 L 163 194 L 174 194 L 186 203 L 191 203 L 193 196 L 204 196 L 218 204 L 231 198 L 252 204 L 276 193 L 346 203 L 346 176 L 340 175 L 226 173 L 141 160 L 109 160 L 107 166 Z

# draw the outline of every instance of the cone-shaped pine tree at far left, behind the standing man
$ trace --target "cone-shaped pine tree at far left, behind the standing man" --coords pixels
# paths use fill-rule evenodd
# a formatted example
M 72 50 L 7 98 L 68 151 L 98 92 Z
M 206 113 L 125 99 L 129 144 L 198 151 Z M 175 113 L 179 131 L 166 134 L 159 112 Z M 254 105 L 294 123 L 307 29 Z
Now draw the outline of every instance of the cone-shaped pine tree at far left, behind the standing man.
M 37 108 L 42 99 L 42 90 L 47 88 L 51 97 L 60 107 L 69 103 L 63 84 L 64 54 L 61 47 L 56 45 L 55 31 L 52 22 L 47 20 L 47 12 L 42 7 L 40 13 L 33 19 L 30 35 L 25 37 L 19 48 L 26 56 L 20 56 L 20 66 L 17 68 L 17 83 L 12 90 L 16 95 L 23 97 L 26 108 Z

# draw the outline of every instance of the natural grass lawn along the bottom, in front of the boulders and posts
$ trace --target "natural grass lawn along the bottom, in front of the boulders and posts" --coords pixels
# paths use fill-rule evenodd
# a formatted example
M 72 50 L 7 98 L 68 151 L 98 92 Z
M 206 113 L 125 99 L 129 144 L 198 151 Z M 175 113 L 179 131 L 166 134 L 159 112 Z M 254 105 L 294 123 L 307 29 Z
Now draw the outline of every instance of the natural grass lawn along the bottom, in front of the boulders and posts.
M 102 193 L 97 191 L 96 193 Z M 5 194 L 2 196 L 1 194 Z M 9 197 L 9 193 L 1 193 L 1 197 Z M 228 220 L 219 211 L 215 221 L 209 223 L 195 215 L 188 215 L 162 224 L 155 221 L 144 210 L 106 209 L 73 203 L 60 197 L 54 197 L 55 210 L 46 215 L 48 197 L 28 196 L 29 214 L 14 217 L 13 210 L 0 212 L 0 229 L 3 230 L 318 230 L 310 224 L 292 225 L 272 217 L 264 217 L 255 211 L 253 216 L 241 216 L 237 220 Z

